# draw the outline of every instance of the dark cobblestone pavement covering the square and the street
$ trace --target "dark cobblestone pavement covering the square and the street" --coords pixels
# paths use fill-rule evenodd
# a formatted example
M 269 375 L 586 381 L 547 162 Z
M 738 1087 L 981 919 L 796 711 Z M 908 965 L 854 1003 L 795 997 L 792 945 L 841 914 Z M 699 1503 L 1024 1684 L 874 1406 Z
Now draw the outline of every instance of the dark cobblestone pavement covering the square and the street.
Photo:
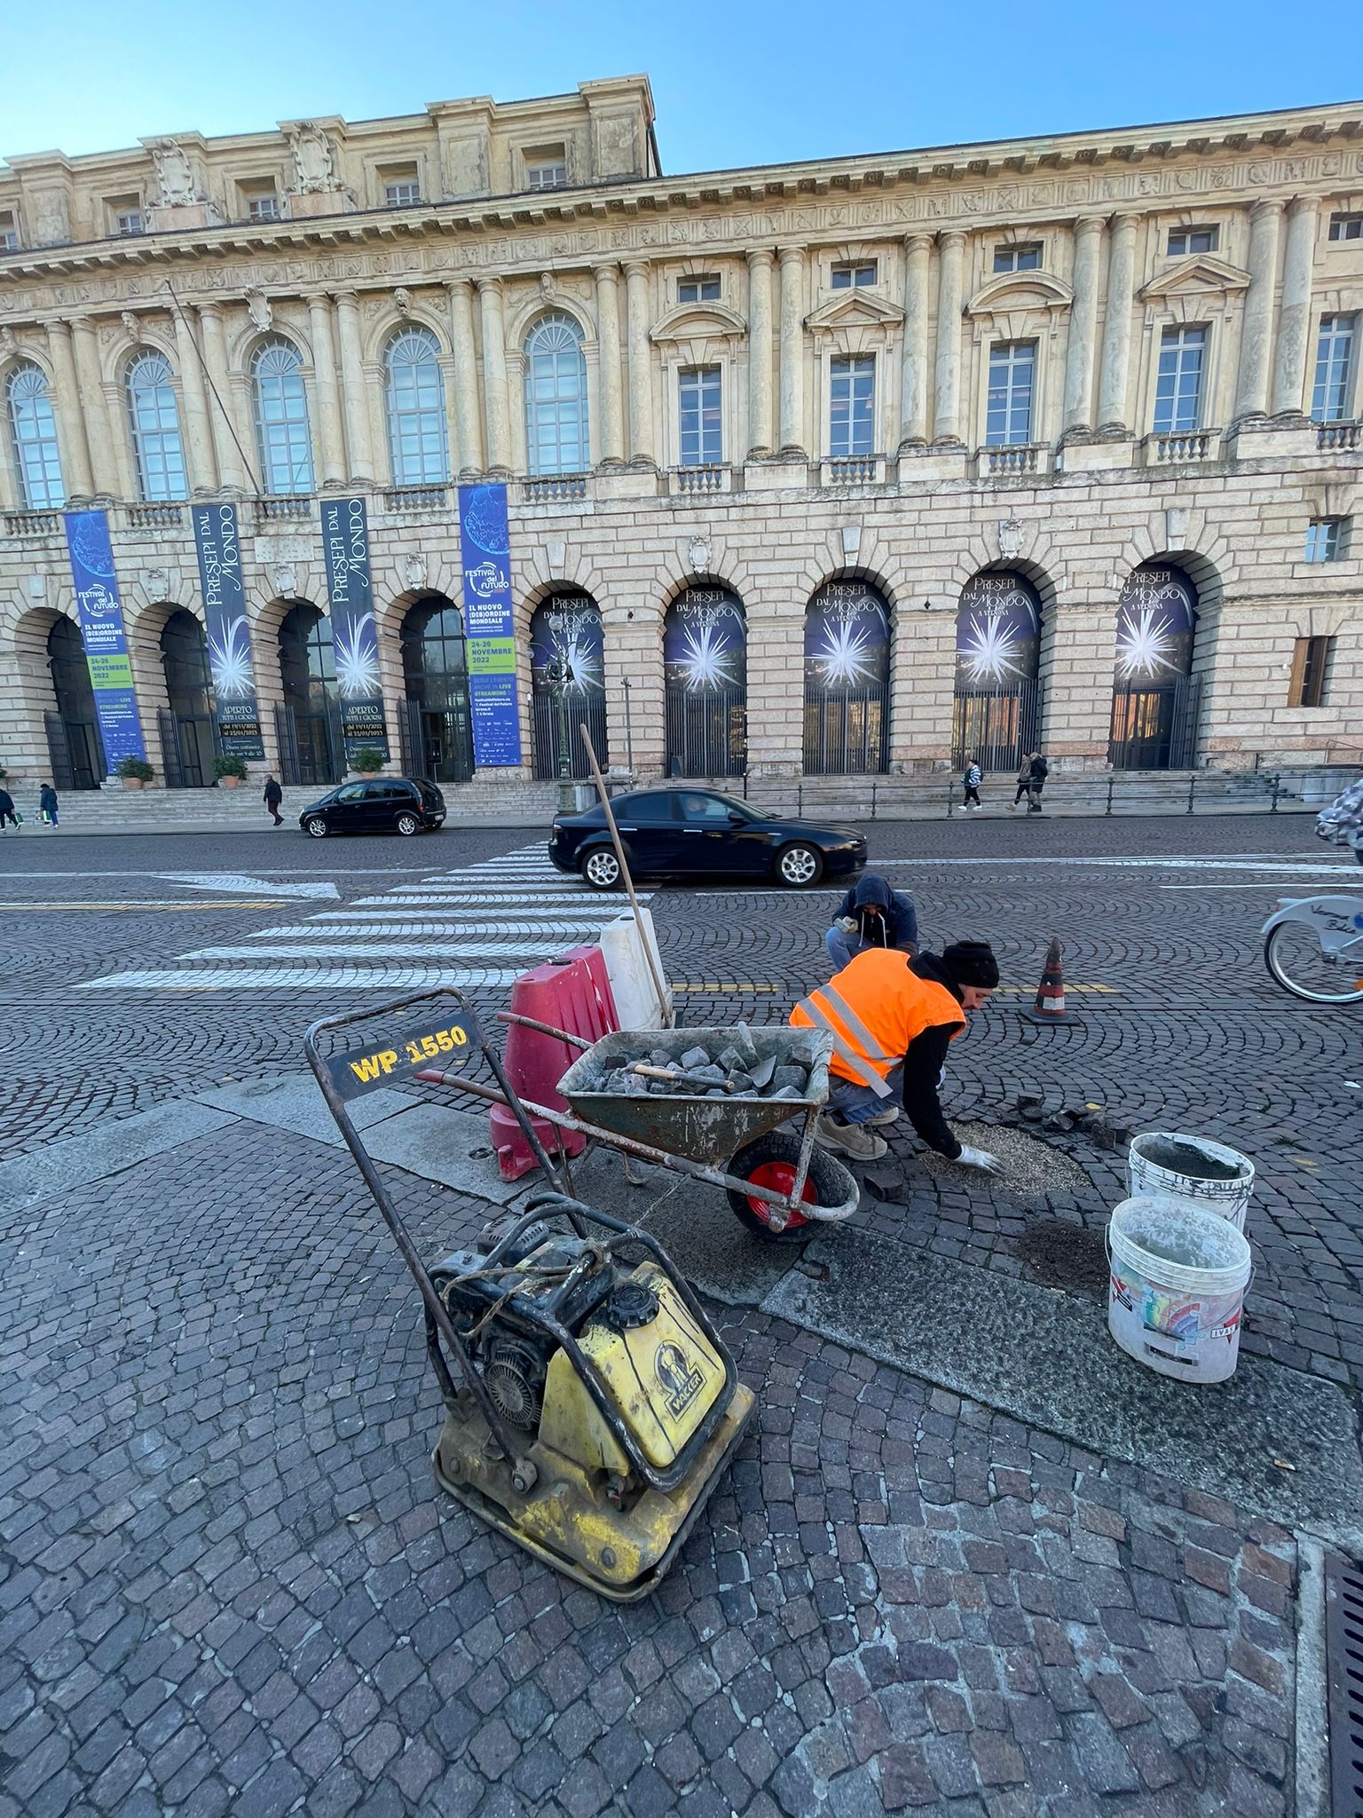
M 1107 987 L 1076 993 L 1083 1022 L 1063 1031 L 996 1000 L 958 1044 L 950 1109 L 996 1118 L 1036 1084 L 1052 1107 L 1230 1136 L 1259 1164 L 1245 1344 L 1339 1378 L 1359 1362 L 1358 1036 L 1261 971 L 1256 931 L 1292 874 L 1034 864 L 1316 865 L 1325 849 L 1268 818 L 1083 827 L 1081 847 L 1074 824 L 876 829 L 932 938 L 996 940 L 1030 994 L 1058 933 L 1070 985 Z M 182 860 L 189 844 L 89 842 L 76 865 L 65 842 L 44 864 L 98 869 L 98 845 L 109 873 L 78 887 L 131 904 L 169 894 L 147 887 L 162 865 L 222 865 Z M 244 844 L 231 865 L 251 873 L 265 853 Z M 449 871 L 523 844 L 445 836 L 413 860 Z M 0 1038 L 24 1096 L 0 1127 L 71 1134 L 296 1062 L 302 1025 L 333 1007 L 316 993 L 82 989 L 391 893 L 402 880 L 342 862 L 407 851 L 294 842 L 285 862 L 334 876 L 338 902 L 7 911 Z M 36 902 L 38 884 L 5 873 L 0 896 Z M 820 976 L 831 902 L 663 893 L 669 971 L 701 987 L 687 1020 L 783 1014 Z M 1096 1227 L 1123 1191 L 1116 1156 L 1054 1140 L 1092 1196 L 952 1187 L 896 1134 L 903 1184 L 890 1171 L 860 1220 L 1020 1273 L 1038 1222 Z M 487 1213 L 393 1180 L 427 1254 Z M 5 1213 L 0 1818 L 1294 1809 L 1290 1533 L 761 1313 L 729 1311 L 723 1331 L 758 1418 L 663 1589 L 618 1611 L 434 1491 L 411 1284 L 343 1153 L 234 1124 Z

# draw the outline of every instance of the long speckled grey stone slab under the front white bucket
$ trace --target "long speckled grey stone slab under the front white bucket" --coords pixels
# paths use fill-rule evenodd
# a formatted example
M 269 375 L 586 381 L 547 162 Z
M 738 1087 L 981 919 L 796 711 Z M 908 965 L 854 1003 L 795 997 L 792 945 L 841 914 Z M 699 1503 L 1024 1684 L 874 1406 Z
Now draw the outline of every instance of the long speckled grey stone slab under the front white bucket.
M 1170 1382 L 1112 1344 L 1096 1302 L 851 1229 L 807 1258 L 827 1278 L 785 1276 L 763 1313 L 1288 1527 L 1363 1525 L 1358 1423 L 1334 1383 L 1243 1351 L 1230 1382 Z

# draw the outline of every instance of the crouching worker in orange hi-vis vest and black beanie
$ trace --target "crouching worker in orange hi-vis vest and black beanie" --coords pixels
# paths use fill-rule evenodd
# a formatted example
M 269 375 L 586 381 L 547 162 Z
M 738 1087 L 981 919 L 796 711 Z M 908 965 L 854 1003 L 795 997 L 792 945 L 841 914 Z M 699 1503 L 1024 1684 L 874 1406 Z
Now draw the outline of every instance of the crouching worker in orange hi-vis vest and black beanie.
M 858 1162 L 874 1162 L 889 1145 L 871 1125 L 892 1124 L 901 1102 L 929 1149 L 989 1174 L 1001 1173 L 987 1149 L 956 1142 L 938 1100 L 949 1044 L 996 985 L 992 947 L 958 940 L 940 954 L 918 958 L 867 947 L 827 985 L 811 991 L 791 1011 L 791 1022 L 832 1033 L 832 1091 L 816 1125 L 818 1140 Z

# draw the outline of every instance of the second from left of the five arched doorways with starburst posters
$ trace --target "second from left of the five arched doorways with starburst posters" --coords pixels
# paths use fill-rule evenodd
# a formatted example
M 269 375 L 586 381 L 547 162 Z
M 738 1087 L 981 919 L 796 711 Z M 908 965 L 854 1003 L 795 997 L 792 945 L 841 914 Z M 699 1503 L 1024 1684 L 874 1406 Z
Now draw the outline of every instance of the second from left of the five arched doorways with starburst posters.
M 663 618 L 667 774 L 747 769 L 747 620 L 731 587 L 687 587 Z

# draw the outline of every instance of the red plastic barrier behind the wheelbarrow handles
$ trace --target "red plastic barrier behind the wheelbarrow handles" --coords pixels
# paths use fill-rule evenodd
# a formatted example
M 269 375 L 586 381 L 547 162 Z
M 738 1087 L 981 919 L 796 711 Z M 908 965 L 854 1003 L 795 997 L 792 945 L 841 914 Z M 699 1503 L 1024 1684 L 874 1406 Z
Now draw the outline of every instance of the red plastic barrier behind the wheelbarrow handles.
M 600 947 L 571 947 L 562 958 L 522 973 L 511 987 L 511 1009 L 518 1016 L 532 1016 L 536 1022 L 552 1024 L 554 1029 L 580 1034 L 583 1042 L 596 1042 L 620 1027 Z M 567 1111 L 567 1100 L 560 1096 L 558 1082 L 576 1058 L 578 1049 L 569 1047 L 567 1042 L 554 1042 L 552 1036 L 540 1034 L 536 1029 L 507 1024 L 507 1047 L 502 1064 L 516 1091 L 523 1098 L 534 1100 L 536 1105 Z M 496 1165 L 503 1180 L 520 1180 L 522 1174 L 538 1167 L 534 1153 L 525 1142 L 525 1133 L 511 1111 L 503 1105 L 492 1105 L 491 1122 Z M 534 1134 L 549 1154 L 560 1145 L 567 1154 L 582 1154 L 587 1147 L 585 1136 L 554 1129 L 543 1118 L 534 1118 Z

